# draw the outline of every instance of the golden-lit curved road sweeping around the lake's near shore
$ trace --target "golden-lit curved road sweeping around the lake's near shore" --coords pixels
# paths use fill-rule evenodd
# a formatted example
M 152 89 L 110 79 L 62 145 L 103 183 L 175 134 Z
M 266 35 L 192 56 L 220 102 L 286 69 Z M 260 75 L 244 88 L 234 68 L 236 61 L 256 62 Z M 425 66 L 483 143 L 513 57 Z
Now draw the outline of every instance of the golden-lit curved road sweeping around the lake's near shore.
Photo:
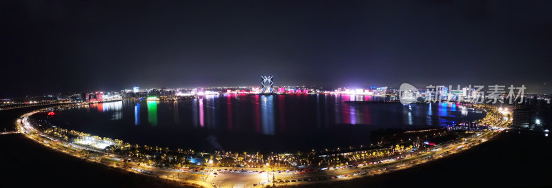
M 26 133 L 24 135 L 26 135 L 28 138 L 31 138 L 32 140 L 36 140 L 37 143 L 41 143 L 42 145 L 45 145 L 52 149 L 57 149 L 58 151 L 70 154 L 72 156 L 83 158 L 90 162 L 103 163 L 104 165 L 118 167 L 119 169 L 124 169 L 126 171 L 134 171 L 141 174 L 148 174 L 151 176 L 157 176 L 170 180 L 181 180 L 184 182 L 197 184 L 202 187 L 254 187 L 254 185 L 256 184 L 259 185 L 256 185 L 255 187 L 263 187 L 266 185 L 273 185 L 273 183 L 275 183 L 271 182 L 273 180 L 277 181 L 277 185 L 282 185 L 282 183 L 288 185 L 308 185 L 320 182 L 347 180 L 351 178 L 385 174 L 390 171 L 397 171 L 400 169 L 413 167 L 415 165 L 427 163 L 428 161 L 435 160 L 437 158 L 442 158 L 451 154 L 455 154 L 457 152 L 462 152 L 466 149 L 469 149 L 469 147 L 474 147 L 475 145 L 478 145 L 485 140 L 493 138 L 493 136 L 499 134 L 508 125 L 507 121 L 502 121 L 493 126 L 500 129 L 487 130 L 470 138 L 457 140 L 452 143 L 446 143 L 443 145 L 435 145 L 434 147 L 430 148 L 434 151 L 417 152 L 416 154 L 412 155 L 408 155 L 408 152 L 406 152 L 399 155 L 404 156 L 404 158 L 400 159 L 398 162 L 388 160 L 386 162 L 375 165 L 366 164 L 364 167 L 348 167 L 337 170 L 308 171 L 300 174 L 294 171 L 268 172 L 268 168 L 243 168 L 244 171 L 225 171 L 224 169 L 237 169 L 228 167 L 207 167 L 209 169 L 205 171 L 186 172 L 178 169 L 152 167 L 149 165 L 137 164 L 132 162 L 122 163 L 124 157 L 121 156 L 107 154 L 106 152 L 92 147 L 84 147 L 82 145 L 75 145 L 73 143 L 64 143 L 63 141 L 48 138 L 48 136 L 40 136 L 41 133 L 38 132 L 37 129 L 34 129 L 34 127 L 32 127 L 32 125 L 30 125 L 30 123 L 26 121 L 28 116 L 30 116 L 31 114 L 34 114 L 34 112 L 30 112 L 21 116 L 21 120 L 23 121 L 16 121 L 16 125 L 17 127 L 19 127 L 19 131 L 10 132 L 10 134 L 17 132 Z M 81 156 L 81 150 L 99 152 L 103 156 L 95 158 Z M 241 170 L 241 168 L 239 170 Z M 265 172 L 255 172 L 256 170 L 264 170 Z

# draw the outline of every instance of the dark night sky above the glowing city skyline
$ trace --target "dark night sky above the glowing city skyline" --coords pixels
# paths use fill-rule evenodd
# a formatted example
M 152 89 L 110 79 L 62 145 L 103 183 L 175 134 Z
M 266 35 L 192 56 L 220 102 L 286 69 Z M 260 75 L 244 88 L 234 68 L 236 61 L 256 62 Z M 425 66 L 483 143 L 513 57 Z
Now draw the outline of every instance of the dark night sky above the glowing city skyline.
M 1 1 L 0 96 L 140 87 L 527 85 L 552 1 Z M 546 84 L 544 84 L 546 83 Z

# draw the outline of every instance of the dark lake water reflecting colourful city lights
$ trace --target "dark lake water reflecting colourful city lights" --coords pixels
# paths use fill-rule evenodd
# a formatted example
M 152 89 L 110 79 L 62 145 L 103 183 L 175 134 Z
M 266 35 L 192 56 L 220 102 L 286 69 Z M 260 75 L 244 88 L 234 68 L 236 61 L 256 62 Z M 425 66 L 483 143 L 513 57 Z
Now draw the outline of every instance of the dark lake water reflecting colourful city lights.
M 296 152 L 370 144 L 375 129 L 446 126 L 484 113 L 455 103 L 402 105 L 375 96 L 204 96 L 188 101 L 118 101 L 57 112 L 51 122 L 132 144 L 196 151 Z

